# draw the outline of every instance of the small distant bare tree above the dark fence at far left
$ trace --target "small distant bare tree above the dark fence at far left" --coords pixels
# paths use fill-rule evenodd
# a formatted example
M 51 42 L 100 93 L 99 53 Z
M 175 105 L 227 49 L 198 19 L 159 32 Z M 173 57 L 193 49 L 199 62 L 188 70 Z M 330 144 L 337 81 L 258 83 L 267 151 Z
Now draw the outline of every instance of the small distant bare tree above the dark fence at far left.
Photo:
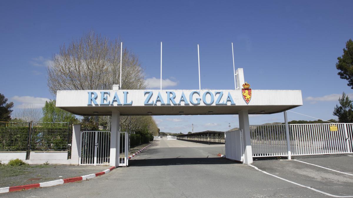
M 24 106 L 13 112 L 13 117 L 23 122 L 39 122 L 42 119 L 42 109 L 35 108 L 33 105 Z

